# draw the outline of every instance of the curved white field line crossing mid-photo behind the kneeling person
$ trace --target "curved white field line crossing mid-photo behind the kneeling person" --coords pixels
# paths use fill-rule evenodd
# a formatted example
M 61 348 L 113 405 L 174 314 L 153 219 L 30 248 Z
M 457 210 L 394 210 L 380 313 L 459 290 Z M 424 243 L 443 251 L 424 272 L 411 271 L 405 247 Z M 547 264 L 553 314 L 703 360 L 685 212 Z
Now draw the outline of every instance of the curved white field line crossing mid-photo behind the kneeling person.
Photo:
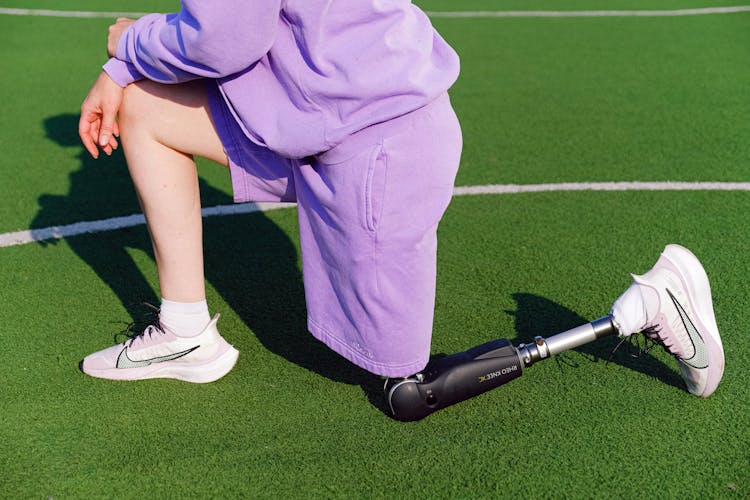
M 750 182 L 569 182 L 559 184 L 494 184 L 486 186 L 460 186 L 456 196 L 483 194 L 516 194 L 560 191 L 750 191 Z M 204 208 L 204 217 L 267 212 L 296 206 L 294 203 L 242 203 Z M 97 221 L 76 222 L 64 226 L 27 229 L 0 234 L 0 248 L 26 245 L 43 240 L 61 239 L 87 233 L 113 231 L 126 227 L 142 226 L 142 214 L 113 217 Z

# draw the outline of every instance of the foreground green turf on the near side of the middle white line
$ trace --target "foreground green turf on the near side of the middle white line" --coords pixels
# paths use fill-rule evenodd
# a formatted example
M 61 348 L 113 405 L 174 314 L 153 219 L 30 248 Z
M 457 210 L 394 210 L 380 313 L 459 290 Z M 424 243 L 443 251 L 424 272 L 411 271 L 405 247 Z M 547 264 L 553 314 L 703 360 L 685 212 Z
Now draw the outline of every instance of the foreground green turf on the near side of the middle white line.
M 435 353 L 497 337 L 529 341 L 599 317 L 627 286 L 629 271 L 650 267 L 664 241 L 680 241 L 718 278 L 714 296 L 727 372 L 716 394 L 699 400 L 683 390 L 674 362 L 661 351 L 637 360 L 618 351 L 607 364 L 615 342 L 605 340 L 414 424 L 387 418 L 379 381 L 305 333 L 294 210 L 206 221 L 207 235 L 223 242 L 207 251 L 209 301 L 222 311 L 222 331 L 242 356 L 226 378 L 205 386 L 113 383 L 76 370 L 82 356 L 112 341 L 129 315 L 108 286 L 117 278 L 97 276 L 74 248 L 88 244 L 112 255 L 116 247 L 145 245 L 143 228 L 112 233 L 105 243 L 92 235 L 3 249 L 9 265 L 2 285 L 14 283 L 25 293 L 6 297 L 0 318 L 18 325 L 11 330 L 13 355 L 2 368 L 11 381 L 2 395 L 2 486 L 22 496 L 60 498 L 130 497 L 133 491 L 268 498 L 716 496 L 731 493 L 732 484 L 746 493 L 748 266 L 734 256 L 747 234 L 706 232 L 703 218 L 676 226 L 670 216 L 675 208 L 700 207 L 706 217 L 741 226 L 737 209 L 744 198 L 457 198 L 441 230 Z M 560 223 L 561 212 L 575 212 L 577 231 Z M 615 218 L 621 225 L 611 228 Z M 644 225 L 653 234 L 644 235 Z M 602 244 L 602 234 L 610 235 L 609 244 Z M 717 237 L 721 251 L 710 243 Z M 227 265 L 238 252 L 249 256 L 249 265 Z M 151 259 L 130 254 L 153 283 Z M 133 283 L 140 273 L 118 278 Z M 20 324 L 13 314 L 32 310 Z M 544 481 L 523 480 L 537 470 Z M 678 472 L 665 477 L 665 470 Z

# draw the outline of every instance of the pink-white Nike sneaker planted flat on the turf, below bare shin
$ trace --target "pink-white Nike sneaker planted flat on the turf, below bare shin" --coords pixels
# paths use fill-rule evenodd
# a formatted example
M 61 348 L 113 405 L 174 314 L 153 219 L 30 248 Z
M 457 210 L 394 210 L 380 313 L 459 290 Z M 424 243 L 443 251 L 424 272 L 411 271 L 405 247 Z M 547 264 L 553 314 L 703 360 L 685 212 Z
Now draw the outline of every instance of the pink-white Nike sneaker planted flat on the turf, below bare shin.
M 81 371 L 111 380 L 176 378 L 205 383 L 218 380 L 234 367 L 239 351 L 219 335 L 214 316 L 194 337 L 179 337 L 156 325 L 122 344 L 90 354 Z

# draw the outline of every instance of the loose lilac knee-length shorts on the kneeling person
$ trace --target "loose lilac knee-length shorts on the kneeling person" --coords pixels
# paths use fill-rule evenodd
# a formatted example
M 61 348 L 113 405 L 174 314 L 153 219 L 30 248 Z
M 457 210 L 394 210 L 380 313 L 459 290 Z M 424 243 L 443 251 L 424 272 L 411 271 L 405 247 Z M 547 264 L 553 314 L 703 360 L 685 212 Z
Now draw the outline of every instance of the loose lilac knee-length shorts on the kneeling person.
M 422 370 L 432 338 L 437 226 L 461 156 L 448 95 L 303 160 L 251 142 L 215 85 L 208 96 L 235 201 L 297 202 L 313 336 L 378 375 Z

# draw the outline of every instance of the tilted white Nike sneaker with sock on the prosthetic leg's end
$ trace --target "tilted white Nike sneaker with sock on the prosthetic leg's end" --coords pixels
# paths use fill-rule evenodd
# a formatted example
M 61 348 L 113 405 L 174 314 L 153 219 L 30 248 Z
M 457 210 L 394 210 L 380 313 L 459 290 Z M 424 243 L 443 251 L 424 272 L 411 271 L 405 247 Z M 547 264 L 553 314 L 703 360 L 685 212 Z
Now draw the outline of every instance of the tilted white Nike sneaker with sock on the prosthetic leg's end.
M 711 287 L 687 248 L 667 245 L 647 273 L 612 307 L 622 336 L 642 332 L 677 358 L 692 394 L 710 396 L 724 374 L 724 348 L 716 326 Z

